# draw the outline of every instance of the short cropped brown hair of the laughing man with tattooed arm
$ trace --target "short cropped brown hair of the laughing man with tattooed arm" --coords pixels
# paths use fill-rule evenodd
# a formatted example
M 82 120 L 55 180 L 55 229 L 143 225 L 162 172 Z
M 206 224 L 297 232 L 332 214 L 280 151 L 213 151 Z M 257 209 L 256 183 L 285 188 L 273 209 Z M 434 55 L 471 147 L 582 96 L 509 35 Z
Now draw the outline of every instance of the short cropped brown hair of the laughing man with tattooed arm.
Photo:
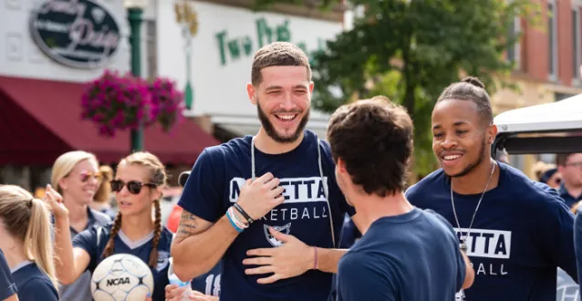
M 305 52 L 294 44 L 274 42 L 256 51 L 251 70 L 251 82 L 254 86 L 258 86 L 263 81 L 261 70 L 272 66 L 305 66 L 307 79 L 311 81 L 309 59 Z

